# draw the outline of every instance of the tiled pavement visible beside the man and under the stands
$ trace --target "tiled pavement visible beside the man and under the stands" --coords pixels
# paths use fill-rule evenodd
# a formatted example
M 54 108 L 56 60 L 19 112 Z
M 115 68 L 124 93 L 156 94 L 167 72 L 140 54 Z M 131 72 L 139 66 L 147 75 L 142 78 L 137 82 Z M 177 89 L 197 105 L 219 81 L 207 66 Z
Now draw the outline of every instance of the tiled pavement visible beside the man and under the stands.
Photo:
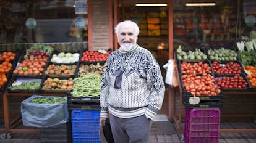
M 221 128 L 256 128 L 254 122 L 225 122 Z M 49 135 L 50 136 L 50 135 Z M 11 139 L 0 139 L 1 143 L 41 143 L 40 134 L 12 134 Z M 220 133 L 219 143 L 255 143 L 256 133 Z M 50 143 L 50 142 L 49 142 Z M 62 143 L 62 142 L 59 142 Z M 173 122 L 165 115 L 156 116 L 151 128 L 150 143 L 184 143 L 183 134 L 177 133 Z M 205 142 L 207 143 L 207 142 Z M 215 143 L 215 142 L 212 142 Z

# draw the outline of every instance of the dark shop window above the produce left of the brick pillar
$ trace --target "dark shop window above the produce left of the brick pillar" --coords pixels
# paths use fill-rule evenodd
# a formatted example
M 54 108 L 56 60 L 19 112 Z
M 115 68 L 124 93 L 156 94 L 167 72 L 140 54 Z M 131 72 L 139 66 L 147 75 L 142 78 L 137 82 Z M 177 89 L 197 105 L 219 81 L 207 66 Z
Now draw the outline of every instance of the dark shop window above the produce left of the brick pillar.
M 0 1 L 0 44 L 87 41 L 87 1 Z

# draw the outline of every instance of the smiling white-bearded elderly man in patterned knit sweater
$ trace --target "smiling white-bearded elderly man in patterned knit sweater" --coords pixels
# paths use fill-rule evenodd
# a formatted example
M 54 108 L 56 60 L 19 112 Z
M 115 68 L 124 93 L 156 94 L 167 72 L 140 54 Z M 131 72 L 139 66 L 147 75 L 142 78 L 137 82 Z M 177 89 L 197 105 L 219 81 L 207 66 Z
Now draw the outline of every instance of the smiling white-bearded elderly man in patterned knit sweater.
M 153 118 L 162 107 L 165 86 L 153 55 L 137 44 L 139 27 L 126 20 L 115 27 L 120 45 L 101 80 L 100 126 L 110 119 L 114 142 L 150 142 Z

